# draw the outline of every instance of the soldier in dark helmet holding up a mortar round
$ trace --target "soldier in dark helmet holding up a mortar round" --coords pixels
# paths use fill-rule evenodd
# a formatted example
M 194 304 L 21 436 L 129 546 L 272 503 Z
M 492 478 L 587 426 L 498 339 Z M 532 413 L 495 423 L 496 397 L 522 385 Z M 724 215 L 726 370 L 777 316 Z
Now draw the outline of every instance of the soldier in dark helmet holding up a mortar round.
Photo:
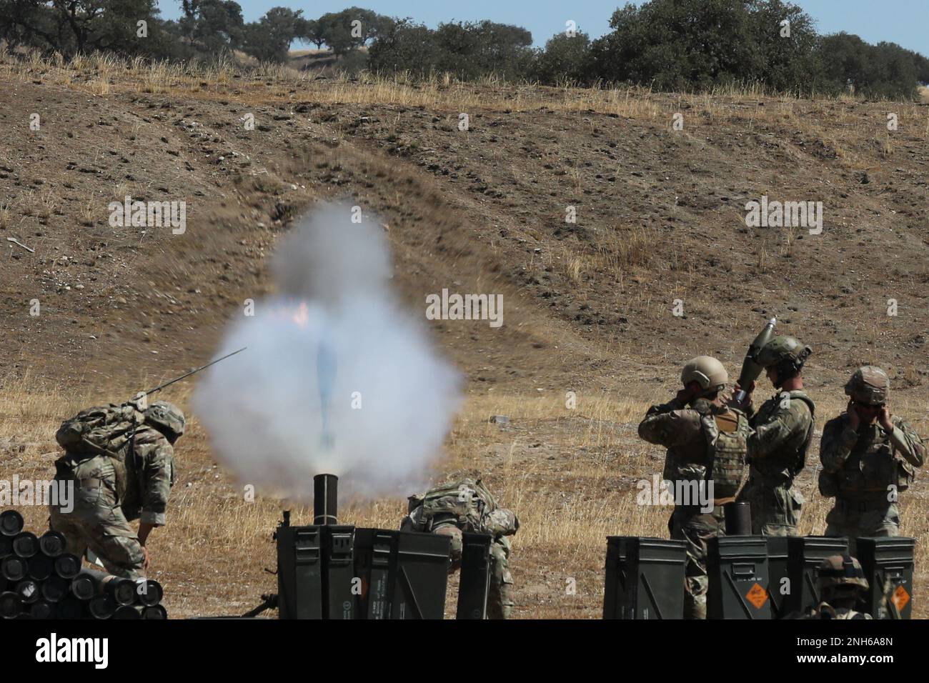
M 749 481 L 739 494 L 752 508 L 752 533 L 796 536 L 804 496 L 793 479 L 806 464 L 813 439 L 816 406 L 804 392 L 801 376 L 813 352 L 792 336 L 776 336 L 758 352 L 756 361 L 778 393 L 755 411 L 754 382 L 745 399 L 732 404 L 749 415 L 754 434 L 749 440 Z M 743 388 L 736 384 L 736 392 Z

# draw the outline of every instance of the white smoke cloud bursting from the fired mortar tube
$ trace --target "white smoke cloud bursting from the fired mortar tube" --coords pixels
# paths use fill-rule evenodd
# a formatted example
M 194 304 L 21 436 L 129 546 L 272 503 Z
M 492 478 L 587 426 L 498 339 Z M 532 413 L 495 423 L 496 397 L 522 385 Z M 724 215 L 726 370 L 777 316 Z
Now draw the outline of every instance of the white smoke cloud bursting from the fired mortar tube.
M 390 291 L 380 226 L 324 205 L 281 241 L 278 295 L 233 322 L 193 406 L 242 483 L 312 500 L 313 475 L 341 492 L 421 487 L 460 402 L 459 375 Z M 360 408 L 357 407 L 360 405 Z

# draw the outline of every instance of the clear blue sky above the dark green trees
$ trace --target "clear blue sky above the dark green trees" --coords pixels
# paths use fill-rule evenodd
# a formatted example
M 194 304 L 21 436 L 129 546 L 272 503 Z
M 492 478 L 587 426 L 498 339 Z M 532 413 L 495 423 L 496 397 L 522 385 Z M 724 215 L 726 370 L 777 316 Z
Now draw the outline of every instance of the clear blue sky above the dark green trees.
M 271 7 L 302 9 L 304 16 L 319 17 L 353 5 L 391 17 L 412 17 L 435 28 L 441 21 L 489 19 L 517 24 L 532 32 L 537 46 L 574 20 L 593 37 L 607 33 L 609 17 L 624 0 L 238 0 L 246 21 L 258 20 Z M 641 4 L 636 2 L 636 5 Z M 857 33 L 869 43 L 898 43 L 929 57 L 929 0 L 794 0 L 817 21 L 819 33 Z M 180 3 L 159 0 L 164 19 L 176 19 Z

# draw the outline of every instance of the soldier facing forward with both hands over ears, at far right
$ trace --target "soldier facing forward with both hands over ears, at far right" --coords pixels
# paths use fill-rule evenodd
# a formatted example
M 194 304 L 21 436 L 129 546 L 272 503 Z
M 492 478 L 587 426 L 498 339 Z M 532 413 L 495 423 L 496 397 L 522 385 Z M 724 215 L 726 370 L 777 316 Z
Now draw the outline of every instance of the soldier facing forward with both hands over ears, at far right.
M 873 365 L 860 367 L 845 385 L 844 414 L 823 428 L 819 445 L 819 493 L 835 497 L 826 517 L 827 536 L 847 536 L 855 552 L 859 536 L 896 536 L 897 494 L 906 491 L 926 449 L 905 420 L 887 408 L 890 378 Z

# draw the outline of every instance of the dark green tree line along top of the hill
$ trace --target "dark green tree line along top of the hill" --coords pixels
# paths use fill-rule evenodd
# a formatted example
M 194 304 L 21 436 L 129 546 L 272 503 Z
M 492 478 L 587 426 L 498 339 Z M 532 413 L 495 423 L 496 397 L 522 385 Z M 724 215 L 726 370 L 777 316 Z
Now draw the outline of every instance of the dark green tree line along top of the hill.
M 772 91 L 915 98 L 929 59 L 894 43 L 817 33 L 802 8 L 783 0 L 649 0 L 626 5 L 609 33 L 592 40 L 568 22 L 541 49 L 518 26 L 452 21 L 435 29 L 410 18 L 348 7 L 309 19 L 273 7 L 246 22 L 234 0 L 179 0 L 162 20 L 156 0 L 0 0 L 0 40 L 65 56 L 94 50 L 150 59 L 211 59 L 236 52 L 287 61 L 294 41 L 326 46 L 347 68 L 495 74 L 548 85 L 646 85 L 693 91 L 761 84 Z

